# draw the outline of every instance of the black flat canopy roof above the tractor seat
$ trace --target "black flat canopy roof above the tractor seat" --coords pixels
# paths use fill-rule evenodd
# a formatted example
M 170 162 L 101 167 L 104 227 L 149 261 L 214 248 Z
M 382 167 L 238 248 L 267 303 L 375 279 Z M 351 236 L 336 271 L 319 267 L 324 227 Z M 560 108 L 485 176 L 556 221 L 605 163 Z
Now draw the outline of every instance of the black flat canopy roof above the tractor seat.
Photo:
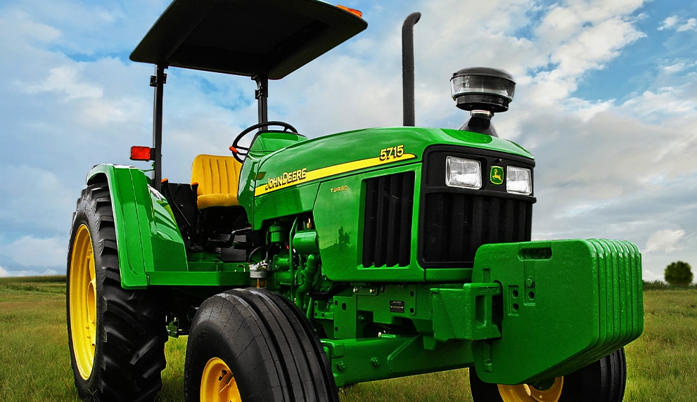
M 367 26 L 318 0 L 174 0 L 131 60 L 280 79 Z

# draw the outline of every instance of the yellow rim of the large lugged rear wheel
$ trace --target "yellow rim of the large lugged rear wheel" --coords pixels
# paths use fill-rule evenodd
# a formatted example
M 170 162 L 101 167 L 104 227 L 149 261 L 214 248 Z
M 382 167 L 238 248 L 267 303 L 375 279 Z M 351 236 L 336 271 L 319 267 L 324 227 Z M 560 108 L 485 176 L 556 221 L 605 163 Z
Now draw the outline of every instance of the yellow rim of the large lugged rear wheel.
M 87 380 L 94 365 L 97 333 L 96 275 L 87 226 L 77 229 L 70 256 L 70 333 L 77 370 Z

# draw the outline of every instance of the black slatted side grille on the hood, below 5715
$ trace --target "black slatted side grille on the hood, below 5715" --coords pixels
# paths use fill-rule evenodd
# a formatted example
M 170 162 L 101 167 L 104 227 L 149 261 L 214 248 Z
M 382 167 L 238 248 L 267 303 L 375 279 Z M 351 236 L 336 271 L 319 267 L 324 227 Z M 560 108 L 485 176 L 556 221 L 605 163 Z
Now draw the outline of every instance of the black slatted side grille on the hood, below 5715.
M 363 266 L 408 266 L 414 172 L 366 180 Z

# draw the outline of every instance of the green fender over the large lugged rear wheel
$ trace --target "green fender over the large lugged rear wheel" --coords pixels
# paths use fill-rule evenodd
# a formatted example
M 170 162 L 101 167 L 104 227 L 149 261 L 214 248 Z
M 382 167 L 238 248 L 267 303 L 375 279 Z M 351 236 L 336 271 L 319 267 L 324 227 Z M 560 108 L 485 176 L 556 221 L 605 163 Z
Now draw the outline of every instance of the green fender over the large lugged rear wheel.
M 187 271 L 186 247 L 167 201 L 148 186 L 135 167 L 98 164 L 87 183 L 107 181 L 114 211 L 116 242 L 125 289 L 155 284 L 153 273 Z

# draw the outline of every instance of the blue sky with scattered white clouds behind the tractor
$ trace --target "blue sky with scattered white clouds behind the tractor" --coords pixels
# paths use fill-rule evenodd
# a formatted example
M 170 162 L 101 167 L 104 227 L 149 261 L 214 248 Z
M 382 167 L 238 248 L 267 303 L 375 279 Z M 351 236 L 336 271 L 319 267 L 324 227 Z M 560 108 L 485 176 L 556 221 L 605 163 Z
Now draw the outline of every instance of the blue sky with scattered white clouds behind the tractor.
M 333 4 L 335 0 L 331 1 Z M 129 60 L 167 0 L 0 0 L 0 276 L 65 273 L 72 212 L 95 164 L 151 145 L 154 67 Z M 309 137 L 402 124 L 401 26 L 414 11 L 416 125 L 466 121 L 449 79 L 516 79 L 499 136 L 535 155 L 532 238 L 630 240 L 644 280 L 697 271 L 697 3 L 343 0 L 366 31 L 269 85 L 269 118 Z M 167 70 L 163 176 L 228 155 L 257 121 L 245 77 Z

